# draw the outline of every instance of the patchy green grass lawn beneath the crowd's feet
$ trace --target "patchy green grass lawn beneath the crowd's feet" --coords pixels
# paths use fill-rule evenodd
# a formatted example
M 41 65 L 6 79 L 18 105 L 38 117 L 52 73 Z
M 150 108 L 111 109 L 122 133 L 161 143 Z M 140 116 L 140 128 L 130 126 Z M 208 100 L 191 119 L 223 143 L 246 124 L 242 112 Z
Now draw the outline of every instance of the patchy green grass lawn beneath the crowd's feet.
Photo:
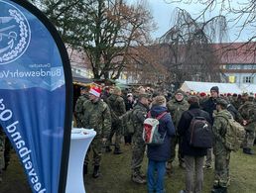
M 256 151 L 256 147 L 254 146 Z M 138 185 L 131 181 L 130 160 L 131 147 L 123 146 L 123 154 L 114 155 L 104 153 L 101 176 L 98 179 L 91 177 L 92 166 L 89 165 L 85 175 L 87 193 L 142 193 L 147 192 L 146 185 Z M 143 171 L 146 172 L 147 157 L 145 156 Z M 174 172 L 166 176 L 167 193 L 178 193 L 185 186 L 184 169 L 174 164 Z M 231 154 L 230 161 L 231 185 L 229 193 L 256 193 L 256 155 L 247 155 L 241 150 Z M 204 170 L 203 193 L 210 192 L 213 181 L 213 169 Z M 75 184 L 74 184 L 75 185 Z M 15 155 L 12 154 L 11 164 L 4 173 L 0 184 L 0 193 L 29 193 L 30 188 L 23 173 L 23 169 Z M 75 192 L 73 192 L 75 193 Z

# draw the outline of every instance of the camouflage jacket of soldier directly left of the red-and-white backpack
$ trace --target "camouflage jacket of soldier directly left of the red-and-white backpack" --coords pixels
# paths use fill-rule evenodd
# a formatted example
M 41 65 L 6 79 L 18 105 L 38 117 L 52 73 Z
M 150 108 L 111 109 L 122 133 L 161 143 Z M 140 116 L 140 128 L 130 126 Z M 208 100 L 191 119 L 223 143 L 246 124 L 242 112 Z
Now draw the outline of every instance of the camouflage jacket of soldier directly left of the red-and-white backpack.
M 138 102 L 133 109 L 132 119 L 134 121 L 135 138 L 142 138 L 143 123 L 147 117 L 148 111 L 149 109 L 140 102 Z

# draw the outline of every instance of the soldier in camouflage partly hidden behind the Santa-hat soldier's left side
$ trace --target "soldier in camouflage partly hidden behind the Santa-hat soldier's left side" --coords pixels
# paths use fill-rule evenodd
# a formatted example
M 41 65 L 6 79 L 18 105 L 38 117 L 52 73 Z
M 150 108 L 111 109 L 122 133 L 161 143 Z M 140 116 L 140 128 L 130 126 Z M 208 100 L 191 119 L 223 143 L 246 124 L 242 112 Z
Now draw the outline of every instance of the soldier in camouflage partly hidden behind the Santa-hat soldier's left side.
M 80 96 L 77 99 L 75 103 L 75 108 L 74 108 L 74 115 L 76 119 L 76 126 L 77 128 L 82 128 L 81 125 L 81 119 L 83 116 L 84 110 L 82 109 L 82 104 L 89 99 L 88 96 L 88 88 L 86 87 L 81 87 L 80 88 Z

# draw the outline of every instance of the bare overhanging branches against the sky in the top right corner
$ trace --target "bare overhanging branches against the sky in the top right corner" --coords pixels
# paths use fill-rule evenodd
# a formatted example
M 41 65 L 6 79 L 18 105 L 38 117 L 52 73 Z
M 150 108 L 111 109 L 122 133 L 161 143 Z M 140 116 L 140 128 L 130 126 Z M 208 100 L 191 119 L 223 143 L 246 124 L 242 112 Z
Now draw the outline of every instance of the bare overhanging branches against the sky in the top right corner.
M 256 2 L 255 0 L 165 0 L 166 3 L 184 3 L 184 4 L 200 4 L 203 6 L 196 20 L 204 21 L 207 13 L 217 13 L 217 15 L 225 16 L 230 29 L 237 31 L 236 40 L 245 30 L 250 30 L 247 42 L 256 40 L 255 24 L 256 24 Z

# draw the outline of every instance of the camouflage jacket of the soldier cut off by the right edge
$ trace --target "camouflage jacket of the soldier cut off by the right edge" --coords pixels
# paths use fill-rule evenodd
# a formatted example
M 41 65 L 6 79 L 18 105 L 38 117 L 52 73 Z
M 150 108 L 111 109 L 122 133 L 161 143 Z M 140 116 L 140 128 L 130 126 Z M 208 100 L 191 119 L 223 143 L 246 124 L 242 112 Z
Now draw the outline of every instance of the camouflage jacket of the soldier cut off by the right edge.
M 247 121 L 245 130 L 255 131 L 256 127 L 256 105 L 252 101 L 246 101 L 239 109 L 242 118 Z

